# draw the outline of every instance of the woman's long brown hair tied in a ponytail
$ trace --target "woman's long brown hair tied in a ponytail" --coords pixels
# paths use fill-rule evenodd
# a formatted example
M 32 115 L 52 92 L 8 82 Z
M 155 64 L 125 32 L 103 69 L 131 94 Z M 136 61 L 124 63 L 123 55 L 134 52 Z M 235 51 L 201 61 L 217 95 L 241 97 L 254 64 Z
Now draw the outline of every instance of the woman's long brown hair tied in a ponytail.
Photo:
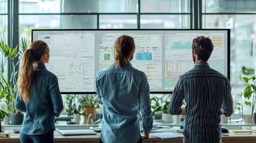
M 44 41 L 34 41 L 31 43 L 29 49 L 26 49 L 23 53 L 18 72 L 18 92 L 19 97 L 24 102 L 29 101 L 30 98 L 33 77 L 35 76 L 34 65 L 41 60 L 42 55 L 48 54 L 48 52 L 47 43 Z

